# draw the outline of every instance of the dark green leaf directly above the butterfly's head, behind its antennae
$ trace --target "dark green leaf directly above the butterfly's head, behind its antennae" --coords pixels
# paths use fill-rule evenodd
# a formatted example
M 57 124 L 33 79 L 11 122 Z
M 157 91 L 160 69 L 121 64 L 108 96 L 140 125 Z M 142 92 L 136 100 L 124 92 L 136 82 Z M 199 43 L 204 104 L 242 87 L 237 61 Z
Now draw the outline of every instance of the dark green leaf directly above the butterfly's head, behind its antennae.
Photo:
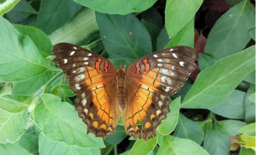
M 115 53 L 117 59 L 122 59 L 124 54 L 124 60 L 134 62 L 152 52 L 151 37 L 143 24 L 134 15 L 108 15 L 96 12 L 96 20 L 99 25 L 101 40 L 103 40 L 103 44 L 111 58 L 115 58 L 113 53 Z M 130 33 L 132 33 L 131 38 L 126 48 Z M 125 49 L 126 52 L 123 53 Z M 129 64 L 126 65 L 128 66 Z

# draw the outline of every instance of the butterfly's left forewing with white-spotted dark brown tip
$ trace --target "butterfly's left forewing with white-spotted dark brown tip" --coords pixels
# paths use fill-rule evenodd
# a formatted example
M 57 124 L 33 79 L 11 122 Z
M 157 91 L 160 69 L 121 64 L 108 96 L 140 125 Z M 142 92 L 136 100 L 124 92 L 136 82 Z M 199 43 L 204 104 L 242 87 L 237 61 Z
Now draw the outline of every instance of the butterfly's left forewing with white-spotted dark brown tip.
M 53 46 L 52 60 L 64 74 L 70 89 L 81 94 L 95 86 L 105 84 L 116 75 L 115 66 L 97 53 L 69 43 L 58 43 Z

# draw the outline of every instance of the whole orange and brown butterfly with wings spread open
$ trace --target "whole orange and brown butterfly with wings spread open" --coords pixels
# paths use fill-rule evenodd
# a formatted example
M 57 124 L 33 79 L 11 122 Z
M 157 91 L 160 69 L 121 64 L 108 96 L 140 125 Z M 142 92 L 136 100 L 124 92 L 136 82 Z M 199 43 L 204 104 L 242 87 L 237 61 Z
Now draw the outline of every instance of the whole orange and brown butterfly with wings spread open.
M 128 135 L 144 140 L 170 112 L 167 96 L 178 92 L 196 67 L 194 50 L 170 47 L 117 67 L 105 57 L 69 43 L 53 46 L 52 60 L 66 75 L 87 134 L 114 134 L 120 113 Z M 142 123 L 142 131 L 137 126 Z

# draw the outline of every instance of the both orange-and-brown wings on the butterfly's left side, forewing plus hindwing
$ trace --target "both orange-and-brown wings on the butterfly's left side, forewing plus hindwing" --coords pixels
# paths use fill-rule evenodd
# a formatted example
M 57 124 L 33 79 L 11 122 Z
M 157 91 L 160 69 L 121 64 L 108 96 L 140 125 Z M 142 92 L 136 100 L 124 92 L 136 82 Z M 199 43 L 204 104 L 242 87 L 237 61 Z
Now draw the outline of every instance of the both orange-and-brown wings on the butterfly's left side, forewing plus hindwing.
M 106 138 L 113 134 L 120 116 L 116 101 L 114 65 L 105 57 L 69 43 L 53 46 L 53 62 L 64 70 L 79 117 L 87 125 L 87 134 Z

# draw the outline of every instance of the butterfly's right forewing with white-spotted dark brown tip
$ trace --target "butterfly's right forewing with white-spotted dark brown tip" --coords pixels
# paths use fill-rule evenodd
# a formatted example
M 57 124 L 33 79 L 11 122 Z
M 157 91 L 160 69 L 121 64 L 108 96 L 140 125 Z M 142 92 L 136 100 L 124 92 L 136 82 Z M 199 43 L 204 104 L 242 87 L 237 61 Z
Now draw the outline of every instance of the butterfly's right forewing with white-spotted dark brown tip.
M 178 92 L 195 69 L 195 51 L 175 46 L 141 57 L 126 70 L 129 80 L 165 96 Z

